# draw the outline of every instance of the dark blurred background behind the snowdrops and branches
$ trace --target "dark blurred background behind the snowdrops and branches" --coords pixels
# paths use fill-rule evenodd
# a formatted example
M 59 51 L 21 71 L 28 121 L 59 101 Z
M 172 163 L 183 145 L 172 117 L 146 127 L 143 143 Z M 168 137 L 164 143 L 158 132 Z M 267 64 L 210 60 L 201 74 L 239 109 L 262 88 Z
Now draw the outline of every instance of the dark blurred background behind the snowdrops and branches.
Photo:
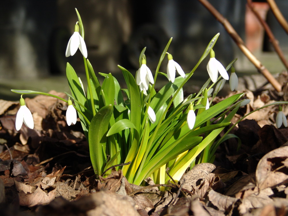
M 246 1 L 210 2 L 271 73 L 285 69 L 261 25 L 247 9 Z M 254 2 L 283 52 L 288 54 L 287 34 L 269 6 L 265 1 Z M 276 0 L 276 3 L 288 19 L 287 0 Z M 147 66 L 155 69 L 170 37 L 173 40 L 168 52 L 185 73 L 190 72 L 218 32 L 215 57 L 224 67 L 238 58 L 234 65 L 238 76 L 257 74 L 223 26 L 197 0 L 10 0 L 2 1 L 0 7 L 0 99 L 18 100 L 19 95 L 10 92 L 12 88 L 69 92 L 65 77 L 67 62 L 85 82 L 81 53 L 77 51 L 74 56 L 65 57 L 77 21 L 75 7 L 82 17 L 88 59 L 95 72 L 111 72 L 119 77 L 120 83 L 123 79 L 117 65 L 134 75 L 139 68 L 139 54 L 146 46 Z M 187 91 L 197 91 L 206 81 L 208 60 L 202 62 L 193 80 L 186 85 Z M 166 72 L 166 63 L 165 58 L 160 71 Z M 167 82 L 164 77 L 159 79 Z

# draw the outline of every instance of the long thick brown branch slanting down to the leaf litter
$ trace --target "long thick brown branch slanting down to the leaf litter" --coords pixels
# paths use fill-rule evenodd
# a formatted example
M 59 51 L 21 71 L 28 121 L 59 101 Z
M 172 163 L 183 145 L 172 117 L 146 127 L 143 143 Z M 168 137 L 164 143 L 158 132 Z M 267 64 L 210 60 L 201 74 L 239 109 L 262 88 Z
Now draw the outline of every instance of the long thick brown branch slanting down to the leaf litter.
M 230 37 L 235 41 L 240 50 L 245 54 L 245 56 L 253 63 L 257 68 L 259 73 L 262 73 L 264 77 L 272 84 L 276 91 L 281 92 L 282 86 L 279 82 L 271 75 L 271 73 L 261 64 L 261 62 L 252 54 L 252 52 L 245 46 L 244 41 L 237 34 L 235 29 L 232 27 L 230 22 L 220 14 L 213 5 L 211 5 L 207 0 L 198 0 L 207 10 L 224 26 L 226 31 L 229 33 Z

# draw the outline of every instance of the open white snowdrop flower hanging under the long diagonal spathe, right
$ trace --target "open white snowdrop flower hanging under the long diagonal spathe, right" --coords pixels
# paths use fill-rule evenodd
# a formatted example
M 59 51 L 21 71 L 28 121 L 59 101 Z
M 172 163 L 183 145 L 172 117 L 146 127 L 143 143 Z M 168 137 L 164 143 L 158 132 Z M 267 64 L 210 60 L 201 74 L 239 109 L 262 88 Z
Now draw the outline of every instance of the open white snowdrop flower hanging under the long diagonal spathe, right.
M 228 76 L 226 69 L 215 58 L 215 52 L 213 50 L 210 51 L 210 60 L 207 64 L 207 71 L 208 71 L 209 76 L 210 76 L 213 83 L 217 81 L 218 71 L 219 71 L 220 75 L 223 77 L 223 79 L 226 79 L 226 80 L 229 79 L 229 76 Z

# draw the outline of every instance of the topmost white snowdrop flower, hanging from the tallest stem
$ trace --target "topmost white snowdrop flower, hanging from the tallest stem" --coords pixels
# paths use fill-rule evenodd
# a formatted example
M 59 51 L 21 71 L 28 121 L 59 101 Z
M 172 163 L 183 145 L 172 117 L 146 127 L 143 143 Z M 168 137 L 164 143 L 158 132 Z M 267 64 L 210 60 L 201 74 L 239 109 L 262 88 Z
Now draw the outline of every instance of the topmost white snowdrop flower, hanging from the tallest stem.
M 79 48 L 80 52 L 82 53 L 82 55 L 85 58 L 87 58 L 86 44 L 85 44 L 84 39 L 79 34 L 79 26 L 76 23 L 76 25 L 74 27 L 74 33 L 68 41 L 68 45 L 67 45 L 66 53 L 65 53 L 66 57 L 73 56 L 76 53 L 78 48 Z

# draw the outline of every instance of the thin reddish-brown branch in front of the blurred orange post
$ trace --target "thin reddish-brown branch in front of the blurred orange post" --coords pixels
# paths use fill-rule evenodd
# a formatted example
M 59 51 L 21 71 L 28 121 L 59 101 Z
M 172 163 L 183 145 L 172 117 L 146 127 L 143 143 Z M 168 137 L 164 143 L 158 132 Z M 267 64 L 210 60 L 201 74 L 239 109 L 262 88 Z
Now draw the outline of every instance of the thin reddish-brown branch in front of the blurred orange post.
M 274 47 L 276 53 L 278 54 L 279 58 L 281 59 L 281 61 L 283 62 L 283 64 L 285 65 L 286 69 L 288 70 L 288 62 L 285 59 L 285 56 L 279 46 L 278 41 L 276 40 L 276 38 L 274 37 L 270 27 L 268 26 L 267 22 L 265 22 L 261 16 L 259 15 L 259 13 L 255 10 L 255 7 L 252 3 L 251 0 L 247 0 L 247 5 L 248 7 L 251 9 L 251 11 L 253 12 L 253 14 L 256 16 L 256 18 L 259 20 L 259 22 L 261 23 L 261 25 L 263 26 L 263 28 L 265 29 L 270 42 L 272 43 L 272 46 Z

